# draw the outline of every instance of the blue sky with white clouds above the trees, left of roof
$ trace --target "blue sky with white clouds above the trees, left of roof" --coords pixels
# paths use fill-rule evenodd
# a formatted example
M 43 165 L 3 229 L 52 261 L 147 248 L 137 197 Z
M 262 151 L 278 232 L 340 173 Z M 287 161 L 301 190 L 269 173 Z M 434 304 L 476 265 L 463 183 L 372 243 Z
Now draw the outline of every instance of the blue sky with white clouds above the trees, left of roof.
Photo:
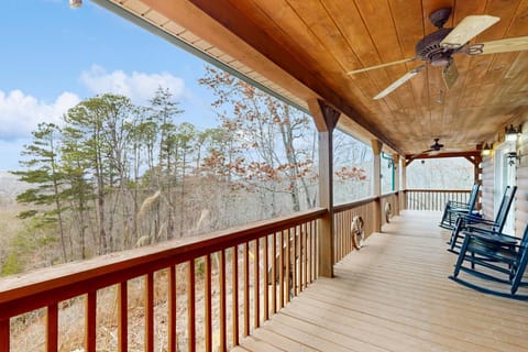
M 205 63 L 173 44 L 88 0 L 75 10 L 67 0 L 1 0 L 0 9 L 0 169 L 20 167 L 40 121 L 107 91 L 145 103 L 163 85 L 186 110 L 182 121 L 216 124 L 197 82 Z

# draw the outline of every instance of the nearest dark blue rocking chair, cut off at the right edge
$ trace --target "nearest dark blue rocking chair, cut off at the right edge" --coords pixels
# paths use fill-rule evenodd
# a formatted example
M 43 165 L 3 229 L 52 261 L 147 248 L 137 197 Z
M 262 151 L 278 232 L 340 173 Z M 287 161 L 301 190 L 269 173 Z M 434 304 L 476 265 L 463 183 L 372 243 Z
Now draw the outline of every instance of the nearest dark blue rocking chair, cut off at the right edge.
M 471 263 L 471 266 L 463 266 L 464 262 Z M 450 278 L 485 294 L 526 300 L 528 295 L 519 295 L 517 290 L 520 286 L 528 286 L 528 282 L 522 280 L 527 263 L 528 226 L 522 239 L 481 229 L 477 232 L 465 232 L 464 242 Z M 479 270 L 475 265 L 479 265 Z M 459 278 L 461 271 L 484 280 L 507 284 L 509 292 L 483 287 L 461 279 Z

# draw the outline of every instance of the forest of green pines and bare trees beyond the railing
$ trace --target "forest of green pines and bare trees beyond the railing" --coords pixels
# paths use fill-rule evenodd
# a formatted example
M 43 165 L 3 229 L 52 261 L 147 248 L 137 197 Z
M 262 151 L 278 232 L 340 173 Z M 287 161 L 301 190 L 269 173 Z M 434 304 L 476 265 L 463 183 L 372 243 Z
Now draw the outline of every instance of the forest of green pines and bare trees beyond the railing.
M 105 94 L 41 123 L 13 172 L 26 187 L 1 275 L 315 207 L 311 117 L 212 67 L 200 84 L 218 120 L 205 130 L 163 87 L 146 107 Z M 337 200 L 369 196 L 370 147 L 343 133 L 334 147 Z

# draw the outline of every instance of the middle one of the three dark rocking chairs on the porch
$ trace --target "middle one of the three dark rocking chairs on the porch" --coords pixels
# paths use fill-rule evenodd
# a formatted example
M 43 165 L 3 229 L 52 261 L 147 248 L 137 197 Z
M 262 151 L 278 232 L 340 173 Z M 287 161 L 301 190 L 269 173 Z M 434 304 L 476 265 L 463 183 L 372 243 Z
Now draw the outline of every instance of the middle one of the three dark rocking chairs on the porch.
M 457 249 L 460 248 L 463 233 L 471 232 L 474 229 L 487 229 L 496 233 L 503 232 L 503 228 L 506 224 L 506 218 L 508 217 L 508 211 L 512 207 L 512 202 L 514 201 L 517 186 L 506 187 L 495 220 L 477 219 L 471 215 L 460 215 L 457 218 L 453 231 L 451 232 L 451 239 L 448 242 L 450 248 L 448 251 L 459 254 Z

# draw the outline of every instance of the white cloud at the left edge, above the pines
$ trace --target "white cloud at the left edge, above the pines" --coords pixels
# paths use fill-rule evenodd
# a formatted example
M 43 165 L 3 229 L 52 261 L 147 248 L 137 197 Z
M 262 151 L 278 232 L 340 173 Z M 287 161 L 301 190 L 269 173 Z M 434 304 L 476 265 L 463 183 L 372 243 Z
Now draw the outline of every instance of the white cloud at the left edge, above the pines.
M 65 91 L 52 103 L 38 100 L 21 90 L 0 90 L 0 139 L 26 138 L 40 122 L 61 123 L 62 116 L 80 101 Z

